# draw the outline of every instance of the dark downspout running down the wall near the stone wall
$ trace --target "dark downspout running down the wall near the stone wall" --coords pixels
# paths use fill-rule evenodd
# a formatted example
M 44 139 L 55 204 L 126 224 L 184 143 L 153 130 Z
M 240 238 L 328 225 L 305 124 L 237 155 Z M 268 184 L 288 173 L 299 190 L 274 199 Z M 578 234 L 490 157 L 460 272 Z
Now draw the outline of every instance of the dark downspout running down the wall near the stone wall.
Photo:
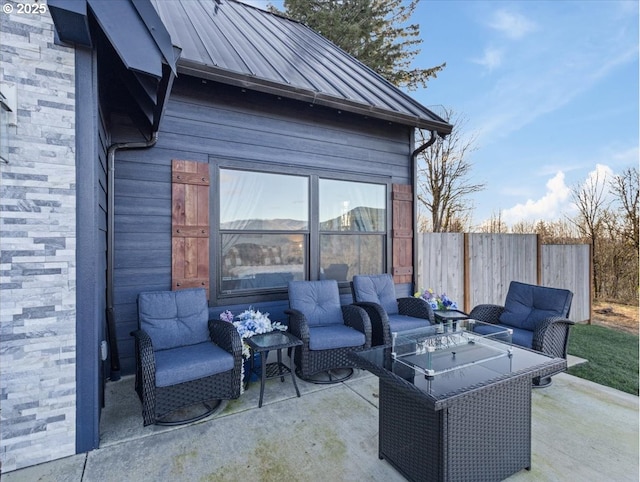
M 116 151 L 129 149 L 147 149 L 158 142 L 158 131 L 151 139 L 143 142 L 121 142 L 111 144 L 107 149 L 107 336 L 109 340 L 109 358 L 111 359 L 111 381 L 120 380 L 120 355 L 113 312 L 113 269 L 115 265 L 115 171 Z

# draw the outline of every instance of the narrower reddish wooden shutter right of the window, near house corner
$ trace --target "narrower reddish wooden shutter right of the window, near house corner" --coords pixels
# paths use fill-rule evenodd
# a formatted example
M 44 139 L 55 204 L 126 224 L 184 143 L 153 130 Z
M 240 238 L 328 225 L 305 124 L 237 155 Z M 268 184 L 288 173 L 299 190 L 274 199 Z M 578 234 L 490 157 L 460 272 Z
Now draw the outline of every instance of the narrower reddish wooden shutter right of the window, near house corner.
M 392 185 L 393 281 L 413 281 L 413 190 L 410 184 Z

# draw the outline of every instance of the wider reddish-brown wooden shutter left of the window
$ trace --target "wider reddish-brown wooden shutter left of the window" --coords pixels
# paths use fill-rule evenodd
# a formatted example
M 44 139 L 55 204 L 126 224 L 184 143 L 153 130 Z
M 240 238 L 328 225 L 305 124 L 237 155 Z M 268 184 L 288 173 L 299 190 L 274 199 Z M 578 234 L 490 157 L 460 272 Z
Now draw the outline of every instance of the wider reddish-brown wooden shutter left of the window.
M 171 289 L 209 298 L 209 165 L 171 161 Z

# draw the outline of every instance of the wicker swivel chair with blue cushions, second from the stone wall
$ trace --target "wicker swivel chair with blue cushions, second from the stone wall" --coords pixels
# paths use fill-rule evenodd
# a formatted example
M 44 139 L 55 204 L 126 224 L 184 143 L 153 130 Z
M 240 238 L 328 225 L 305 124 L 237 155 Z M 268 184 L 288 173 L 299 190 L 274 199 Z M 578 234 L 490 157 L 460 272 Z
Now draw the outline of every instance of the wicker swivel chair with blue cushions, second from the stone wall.
M 347 358 L 371 347 L 371 322 L 364 309 L 341 305 L 336 280 L 289 282 L 289 331 L 302 340 L 294 351 L 296 375 L 313 383 L 346 380 L 356 366 Z M 347 369 L 340 376 L 339 369 Z M 326 374 L 324 378 L 315 377 Z

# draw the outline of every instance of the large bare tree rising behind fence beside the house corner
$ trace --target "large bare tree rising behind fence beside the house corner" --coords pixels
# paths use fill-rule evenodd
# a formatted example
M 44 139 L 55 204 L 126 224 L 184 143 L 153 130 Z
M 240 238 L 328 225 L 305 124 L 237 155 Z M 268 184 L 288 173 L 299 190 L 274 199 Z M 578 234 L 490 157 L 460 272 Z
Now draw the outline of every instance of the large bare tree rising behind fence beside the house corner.
M 470 194 L 484 189 L 484 184 L 470 181 L 472 164 L 468 155 L 475 150 L 476 136 L 464 136 L 466 119 L 453 110 L 441 114 L 453 131 L 437 140 L 418 156 L 418 201 L 431 219 L 431 231 L 458 231 L 473 209 Z M 418 139 L 427 142 L 427 134 L 418 131 Z

